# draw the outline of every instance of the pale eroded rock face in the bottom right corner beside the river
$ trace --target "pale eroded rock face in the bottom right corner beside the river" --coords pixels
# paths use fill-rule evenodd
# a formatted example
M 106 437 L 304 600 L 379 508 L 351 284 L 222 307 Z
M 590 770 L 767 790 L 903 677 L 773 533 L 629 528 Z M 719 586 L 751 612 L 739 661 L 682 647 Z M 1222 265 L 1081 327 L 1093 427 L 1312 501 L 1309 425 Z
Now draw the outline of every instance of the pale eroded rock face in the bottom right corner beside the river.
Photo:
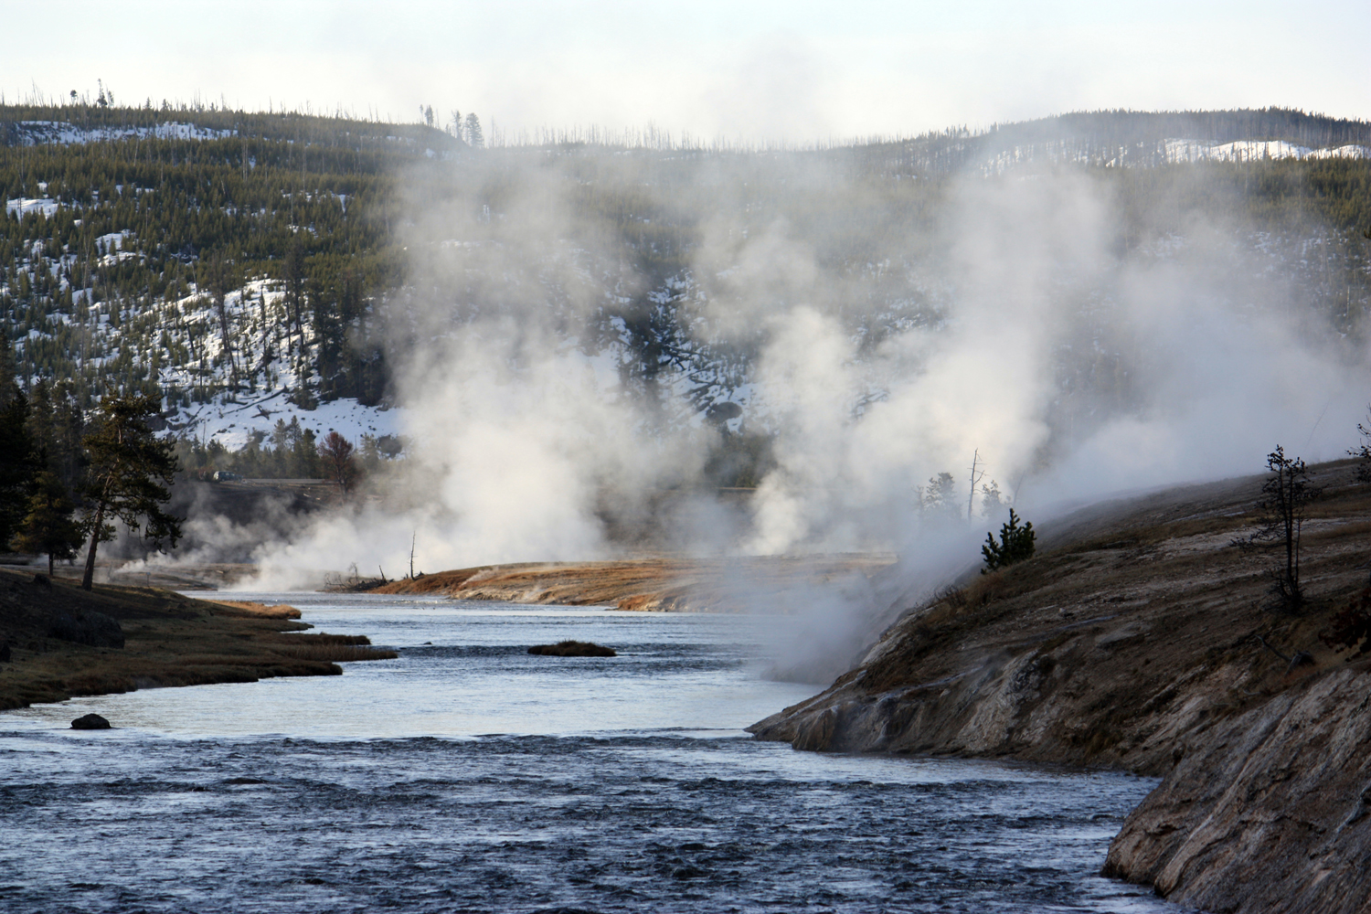
M 1371 909 L 1371 674 L 1308 680 L 1187 743 L 1106 876 L 1208 911 Z

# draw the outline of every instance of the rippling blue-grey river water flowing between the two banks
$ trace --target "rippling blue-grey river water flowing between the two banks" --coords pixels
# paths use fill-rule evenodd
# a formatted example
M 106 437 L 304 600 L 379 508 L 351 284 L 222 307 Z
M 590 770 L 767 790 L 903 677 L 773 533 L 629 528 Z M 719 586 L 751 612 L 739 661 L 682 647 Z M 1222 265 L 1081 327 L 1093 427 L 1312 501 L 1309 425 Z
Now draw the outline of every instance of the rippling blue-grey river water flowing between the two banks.
M 400 656 L 0 714 L 0 910 L 1180 910 L 1097 876 L 1152 780 L 753 741 L 781 619 L 218 596 Z

